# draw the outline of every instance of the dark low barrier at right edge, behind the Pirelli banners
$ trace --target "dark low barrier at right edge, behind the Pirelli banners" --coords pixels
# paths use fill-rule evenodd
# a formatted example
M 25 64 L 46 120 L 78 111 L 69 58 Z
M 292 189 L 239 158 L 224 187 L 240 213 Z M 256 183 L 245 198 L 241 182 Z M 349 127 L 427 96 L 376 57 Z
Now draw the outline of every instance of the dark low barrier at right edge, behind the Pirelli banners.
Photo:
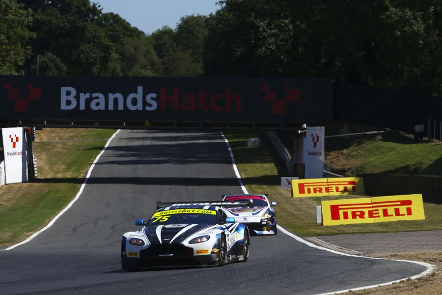
M 362 174 L 368 196 L 422 194 L 424 202 L 442 204 L 442 176 Z

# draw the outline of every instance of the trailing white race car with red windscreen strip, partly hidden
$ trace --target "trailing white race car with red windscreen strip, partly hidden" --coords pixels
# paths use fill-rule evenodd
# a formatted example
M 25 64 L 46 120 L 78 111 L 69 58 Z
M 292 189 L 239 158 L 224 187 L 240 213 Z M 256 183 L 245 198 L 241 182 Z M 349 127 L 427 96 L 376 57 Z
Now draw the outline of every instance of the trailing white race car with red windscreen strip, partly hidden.
M 247 205 L 225 207 L 227 217 L 235 218 L 236 222 L 247 225 L 251 235 L 276 235 L 276 202 L 270 203 L 266 195 L 244 194 L 224 195 L 223 201 L 244 202 Z

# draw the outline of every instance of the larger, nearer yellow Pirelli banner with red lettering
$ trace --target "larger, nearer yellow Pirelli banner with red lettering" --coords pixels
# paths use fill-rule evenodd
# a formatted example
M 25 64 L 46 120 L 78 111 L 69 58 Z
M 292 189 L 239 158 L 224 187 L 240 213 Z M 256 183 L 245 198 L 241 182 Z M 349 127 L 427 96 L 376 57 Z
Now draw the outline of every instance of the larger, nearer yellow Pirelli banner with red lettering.
M 322 201 L 325 226 L 425 219 L 421 194 Z

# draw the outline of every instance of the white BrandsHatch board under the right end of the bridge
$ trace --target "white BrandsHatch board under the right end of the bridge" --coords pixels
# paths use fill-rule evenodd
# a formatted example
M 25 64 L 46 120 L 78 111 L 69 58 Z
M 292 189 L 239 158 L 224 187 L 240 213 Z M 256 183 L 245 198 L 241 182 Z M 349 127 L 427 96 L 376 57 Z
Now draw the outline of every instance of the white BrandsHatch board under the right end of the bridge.
M 322 178 L 324 171 L 324 127 L 307 127 L 303 142 L 304 178 Z

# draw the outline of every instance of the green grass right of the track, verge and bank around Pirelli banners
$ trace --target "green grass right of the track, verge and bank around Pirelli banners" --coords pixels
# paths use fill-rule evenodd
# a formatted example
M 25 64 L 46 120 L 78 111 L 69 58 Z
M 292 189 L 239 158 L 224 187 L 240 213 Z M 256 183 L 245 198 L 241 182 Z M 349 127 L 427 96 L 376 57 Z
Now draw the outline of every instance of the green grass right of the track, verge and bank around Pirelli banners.
M 442 205 L 431 203 L 424 203 L 425 220 L 415 221 L 396 221 L 396 222 L 382 222 L 375 224 L 349 224 L 325 227 L 316 223 L 315 206 L 320 205 L 322 200 L 331 199 L 348 199 L 348 196 L 340 197 L 310 197 L 310 198 L 292 198 L 289 189 L 282 189 L 280 187 L 280 177 L 287 176 L 282 163 L 273 152 L 270 143 L 266 137 L 257 132 L 251 131 L 233 131 L 228 130 L 225 136 L 230 142 L 235 159 L 237 161 L 238 169 L 243 177 L 244 184 L 247 186 L 250 193 L 268 193 L 271 201 L 278 202 L 276 207 L 278 223 L 301 236 L 324 236 L 324 235 L 340 235 L 353 233 L 383 233 L 383 232 L 406 232 L 406 231 L 427 231 L 427 230 L 442 230 Z M 259 137 L 261 139 L 261 146 L 258 148 L 247 148 L 247 139 Z M 401 142 L 397 142 L 398 140 Z M 389 137 L 387 147 L 394 152 L 396 149 L 397 158 L 406 158 L 412 152 L 415 153 L 415 148 L 407 148 L 406 143 L 402 138 Z M 373 143 L 375 141 L 375 143 Z M 347 142 L 347 149 L 357 149 L 358 159 L 360 162 L 358 173 L 374 173 L 371 170 L 364 170 L 363 167 L 372 167 L 365 165 L 365 163 L 372 163 L 376 157 L 369 154 L 376 149 L 380 149 L 380 145 L 384 143 L 380 140 L 366 140 L 357 139 L 355 142 Z M 368 146 L 374 145 L 371 148 L 358 148 L 360 145 Z M 435 151 L 435 145 L 432 143 L 419 146 L 419 154 L 425 155 L 421 160 L 414 158 L 412 164 L 409 159 L 407 165 L 415 167 L 419 171 L 427 171 L 424 167 L 429 167 L 442 159 L 442 145 L 441 151 Z M 399 147 L 399 148 L 398 148 Z M 412 151 L 410 151 L 412 150 Z M 338 150 L 336 150 L 338 152 Z M 440 153 L 440 157 L 438 158 Z M 432 154 L 433 163 L 427 161 L 427 155 Z M 340 162 L 346 162 L 346 156 L 339 158 Z M 391 167 L 392 162 L 378 161 L 376 167 L 380 171 L 386 171 L 387 167 Z M 400 160 L 394 160 L 398 166 Z M 367 168 L 368 169 L 368 168 Z M 353 198 L 353 196 L 352 196 Z M 356 196 L 355 198 L 359 198 Z

